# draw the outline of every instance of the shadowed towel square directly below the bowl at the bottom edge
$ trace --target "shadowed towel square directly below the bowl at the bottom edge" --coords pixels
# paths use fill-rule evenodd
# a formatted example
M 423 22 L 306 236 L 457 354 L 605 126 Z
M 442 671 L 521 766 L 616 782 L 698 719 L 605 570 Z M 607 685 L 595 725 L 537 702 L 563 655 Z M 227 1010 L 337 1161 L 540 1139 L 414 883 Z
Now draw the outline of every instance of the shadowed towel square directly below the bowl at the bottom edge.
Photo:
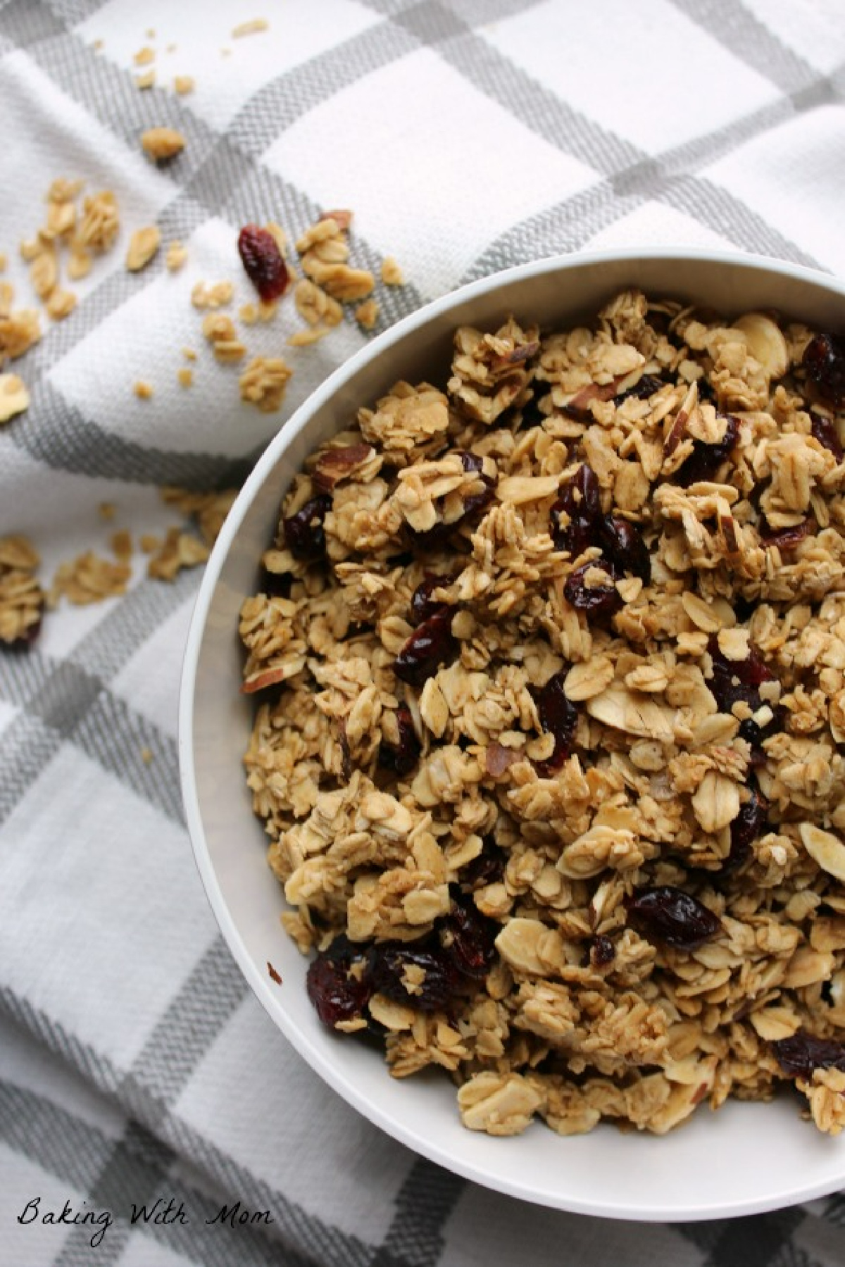
M 576 1166 L 571 1149 L 576 1139 L 561 1139 L 561 1166 Z M 580 1214 L 562 1214 L 527 1205 L 499 1192 L 469 1183 L 443 1229 L 443 1263 L 461 1267 L 488 1267 L 490 1247 L 498 1263 L 531 1262 L 531 1267 L 561 1267 L 589 1263 L 589 1267 L 699 1267 L 704 1261 L 680 1232 L 665 1224 L 616 1223 Z M 526 1258 L 526 1249 L 530 1256 Z M 561 1253 L 565 1247 L 565 1254 Z

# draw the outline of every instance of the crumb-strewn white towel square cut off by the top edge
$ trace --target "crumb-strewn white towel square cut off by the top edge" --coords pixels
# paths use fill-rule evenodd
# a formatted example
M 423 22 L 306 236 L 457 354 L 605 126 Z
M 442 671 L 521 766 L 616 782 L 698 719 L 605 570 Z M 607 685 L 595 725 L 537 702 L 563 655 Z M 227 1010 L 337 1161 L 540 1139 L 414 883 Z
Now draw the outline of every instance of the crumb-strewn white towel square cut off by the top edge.
M 256 16 L 267 20 L 266 30 L 232 38 L 237 25 Z M 101 56 L 124 70 L 155 70 L 157 87 L 172 89 L 174 75 L 193 76 L 196 86 L 184 103 L 222 132 L 265 84 L 378 22 L 379 14 L 356 0 L 319 0 L 317 22 L 309 4 L 214 0 L 198 20 L 195 6 L 172 0 L 144 0 L 143 9 L 134 0 L 111 0 L 76 32 L 90 43 L 101 39 Z M 156 60 L 136 66 L 133 57 L 144 47 Z

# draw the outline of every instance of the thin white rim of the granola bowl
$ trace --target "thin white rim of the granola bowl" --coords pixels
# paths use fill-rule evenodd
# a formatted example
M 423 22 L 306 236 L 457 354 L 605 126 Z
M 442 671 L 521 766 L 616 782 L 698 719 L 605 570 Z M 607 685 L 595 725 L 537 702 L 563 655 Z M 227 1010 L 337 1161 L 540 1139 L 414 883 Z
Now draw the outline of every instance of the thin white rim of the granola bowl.
M 737 1197 L 736 1200 L 721 1201 L 718 1204 L 690 1204 L 685 1209 L 680 1209 L 677 1205 L 661 1206 L 659 1201 L 655 1201 L 654 1205 L 650 1205 L 649 1207 L 644 1207 L 641 1204 L 633 1206 L 625 1205 L 623 1202 L 608 1206 L 600 1200 L 593 1201 L 580 1197 L 569 1199 L 565 1195 L 560 1201 L 552 1201 L 545 1194 L 542 1196 L 535 1195 L 527 1183 L 522 1185 L 505 1177 L 490 1175 L 486 1171 L 478 1168 L 471 1162 L 452 1157 L 438 1145 L 436 1139 L 419 1134 L 404 1121 L 400 1121 L 390 1112 L 384 1111 L 375 1100 L 371 1100 L 369 1096 L 361 1093 L 355 1082 L 348 1078 L 342 1069 L 338 1069 L 334 1064 L 332 1064 L 323 1055 L 322 1050 L 312 1044 L 308 1035 L 293 1024 L 283 1010 L 277 1009 L 269 979 L 266 979 L 253 964 L 238 927 L 229 914 L 223 891 L 212 864 L 208 841 L 203 829 L 194 767 L 194 698 L 196 670 L 209 608 L 212 606 L 212 599 L 214 597 L 220 571 L 237 537 L 238 530 L 241 528 L 241 525 L 248 509 L 252 507 L 260 489 L 264 487 L 265 480 L 271 475 L 281 455 L 294 442 L 295 437 L 307 426 L 312 416 L 321 409 L 323 404 L 326 404 L 351 378 L 353 378 L 360 369 L 380 357 L 388 351 L 388 348 L 391 347 L 393 343 L 398 342 L 414 329 L 426 326 L 433 318 L 457 308 L 466 300 L 485 295 L 489 291 L 497 290 L 513 281 L 540 277 L 546 272 L 570 271 L 593 264 L 616 264 L 626 261 L 630 261 L 631 264 L 641 264 L 650 260 L 664 262 L 677 260 L 679 264 L 703 261 L 735 266 L 749 272 L 774 272 L 799 281 L 821 285 L 845 299 L 845 283 L 834 274 L 827 274 L 818 269 L 810 269 L 804 265 L 792 264 L 785 260 L 730 250 L 722 251 L 693 247 L 626 247 L 619 250 L 609 248 L 602 251 L 579 251 L 569 255 L 554 255 L 541 260 L 532 260 L 524 264 L 514 265 L 513 267 L 489 274 L 476 281 L 459 286 L 457 289 L 423 304 L 421 308 L 395 322 L 386 331 L 355 352 L 348 360 L 343 361 L 328 375 L 328 378 L 323 380 L 323 383 L 321 383 L 314 392 L 310 393 L 310 395 L 299 405 L 291 417 L 283 424 L 280 431 L 272 437 L 239 490 L 223 523 L 217 542 L 214 544 L 209 560 L 205 564 L 203 579 L 194 603 L 182 659 L 179 696 L 177 748 L 185 821 L 194 853 L 194 862 L 199 870 L 205 888 L 205 896 L 220 933 L 223 934 L 229 952 L 232 953 L 241 972 L 274 1024 L 277 1025 L 298 1054 L 303 1057 L 310 1068 L 314 1069 L 314 1072 L 318 1073 L 333 1091 L 342 1096 L 343 1100 L 346 1100 L 346 1102 L 357 1110 L 357 1112 L 360 1112 L 365 1119 L 379 1126 L 393 1139 L 399 1140 L 402 1144 L 413 1149 L 413 1152 L 436 1162 L 438 1166 L 445 1167 L 452 1173 L 475 1183 L 480 1183 L 489 1190 L 503 1192 L 507 1196 L 528 1201 L 535 1205 L 542 1204 L 551 1209 L 566 1210 L 574 1214 L 588 1214 L 597 1218 L 630 1219 L 635 1221 L 687 1221 L 760 1214 L 768 1210 L 780 1209 L 783 1206 L 796 1205 L 802 1201 L 810 1201 L 820 1196 L 826 1196 L 835 1191 L 839 1185 L 831 1185 L 826 1181 L 802 1185 L 799 1181 L 796 1182 L 794 1177 L 788 1178 L 787 1169 L 782 1191 L 773 1192 L 766 1197 Z M 497 1145 L 502 1147 L 502 1143 L 503 1142 L 498 1140 Z

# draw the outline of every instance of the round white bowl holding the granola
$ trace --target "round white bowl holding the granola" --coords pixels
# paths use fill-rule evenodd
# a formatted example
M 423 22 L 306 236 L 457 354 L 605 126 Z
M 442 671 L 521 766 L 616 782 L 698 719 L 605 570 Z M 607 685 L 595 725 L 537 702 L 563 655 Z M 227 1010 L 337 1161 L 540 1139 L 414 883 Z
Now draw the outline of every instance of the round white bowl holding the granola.
M 543 326 L 592 317 L 623 286 L 711 304 L 726 314 L 779 308 L 822 328 L 845 326 L 845 288 L 772 260 L 635 252 L 541 260 L 446 295 L 341 366 L 294 414 L 247 480 L 214 547 L 187 640 L 180 759 L 187 826 L 209 901 L 232 954 L 267 1012 L 338 1095 L 435 1162 L 542 1205 L 619 1219 L 753 1214 L 845 1186 L 845 1136 L 802 1121 L 798 1102 L 699 1110 L 658 1139 L 599 1126 L 564 1139 L 541 1123 L 516 1139 L 465 1130 L 443 1077 L 395 1081 L 381 1055 L 326 1030 L 305 996 L 305 960 L 283 931 L 283 893 L 265 862 L 241 758 L 251 701 L 239 693 L 238 609 L 257 588 L 291 476 L 314 446 L 397 379 L 442 383 L 455 326 L 486 328 L 514 312 Z M 284 984 L 276 984 L 269 962 Z M 331 1164 L 331 1159 L 326 1159 Z

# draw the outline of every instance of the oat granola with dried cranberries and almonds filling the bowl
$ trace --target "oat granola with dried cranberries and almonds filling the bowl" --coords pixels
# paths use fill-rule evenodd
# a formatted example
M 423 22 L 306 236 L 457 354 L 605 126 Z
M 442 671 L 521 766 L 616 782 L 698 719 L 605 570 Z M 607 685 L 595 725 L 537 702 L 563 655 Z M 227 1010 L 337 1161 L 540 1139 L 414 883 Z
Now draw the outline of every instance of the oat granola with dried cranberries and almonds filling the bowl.
M 246 754 L 326 1024 L 466 1126 L 845 1124 L 845 343 L 455 333 L 294 480 Z

